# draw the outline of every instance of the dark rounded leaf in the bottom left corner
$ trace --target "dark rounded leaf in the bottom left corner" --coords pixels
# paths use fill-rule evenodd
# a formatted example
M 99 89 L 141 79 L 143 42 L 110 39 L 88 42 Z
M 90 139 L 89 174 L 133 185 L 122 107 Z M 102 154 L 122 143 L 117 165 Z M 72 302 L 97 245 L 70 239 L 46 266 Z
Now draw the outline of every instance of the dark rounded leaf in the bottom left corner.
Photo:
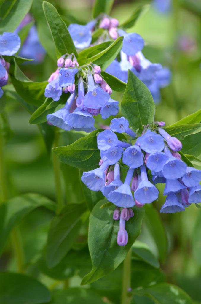
M 0 302 L 7 304 L 34 304 L 51 300 L 50 291 L 28 275 L 0 272 Z

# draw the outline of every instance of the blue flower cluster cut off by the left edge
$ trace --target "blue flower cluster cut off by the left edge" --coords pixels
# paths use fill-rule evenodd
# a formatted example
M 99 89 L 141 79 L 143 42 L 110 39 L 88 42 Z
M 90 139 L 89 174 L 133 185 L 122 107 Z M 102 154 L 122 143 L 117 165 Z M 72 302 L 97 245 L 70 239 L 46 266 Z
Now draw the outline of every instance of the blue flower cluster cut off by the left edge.
M 5 62 L 3 55 L 12 56 L 20 48 L 20 38 L 17 34 L 3 33 L 0 35 L 0 98 L 3 95 L 1 87 L 7 84 L 10 64 Z

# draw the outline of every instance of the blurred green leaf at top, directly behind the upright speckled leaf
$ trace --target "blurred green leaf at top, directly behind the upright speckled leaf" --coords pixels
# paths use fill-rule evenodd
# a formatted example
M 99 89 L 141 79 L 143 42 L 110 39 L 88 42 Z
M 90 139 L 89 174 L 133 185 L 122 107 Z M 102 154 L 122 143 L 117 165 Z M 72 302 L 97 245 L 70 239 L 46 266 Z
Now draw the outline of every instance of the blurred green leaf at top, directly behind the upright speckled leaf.
M 43 0 L 34 0 L 32 4 L 32 12 L 34 19 L 36 20 L 36 27 L 39 35 L 39 40 L 48 55 L 56 61 L 56 50 L 54 41 L 49 30 L 44 12 L 43 12 Z

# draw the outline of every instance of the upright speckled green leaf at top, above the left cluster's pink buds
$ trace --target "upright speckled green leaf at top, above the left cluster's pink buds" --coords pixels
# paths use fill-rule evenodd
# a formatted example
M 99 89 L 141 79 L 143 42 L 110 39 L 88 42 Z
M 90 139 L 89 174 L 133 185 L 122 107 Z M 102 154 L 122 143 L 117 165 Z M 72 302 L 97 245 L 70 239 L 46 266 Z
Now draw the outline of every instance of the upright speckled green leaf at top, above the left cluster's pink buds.
M 55 43 L 57 58 L 60 58 L 66 53 L 73 53 L 77 56 L 77 51 L 67 26 L 59 16 L 55 7 L 51 3 L 44 1 L 43 10 Z

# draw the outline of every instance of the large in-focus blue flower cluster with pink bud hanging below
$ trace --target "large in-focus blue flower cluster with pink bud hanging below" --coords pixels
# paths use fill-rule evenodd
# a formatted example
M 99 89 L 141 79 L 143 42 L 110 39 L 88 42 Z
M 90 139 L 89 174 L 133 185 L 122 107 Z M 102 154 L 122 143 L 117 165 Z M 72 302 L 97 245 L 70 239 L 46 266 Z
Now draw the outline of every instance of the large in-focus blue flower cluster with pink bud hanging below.
M 182 143 L 170 136 L 162 127 L 164 122 L 148 124 L 137 137 L 124 117 L 111 120 L 110 130 L 97 135 L 100 150 L 100 167 L 83 172 L 81 180 L 93 191 L 101 191 L 117 209 L 114 219 L 120 218 L 117 242 L 125 245 L 128 234 L 125 220 L 133 216 L 131 207 L 144 206 L 158 199 L 157 183 L 164 183 L 163 195 L 167 195 L 160 212 L 184 211 L 191 203 L 201 202 L 201 171 L 187 167 L 181 160 Z M 118 133 L 131 136 L 129 142 L 118 140 Z M 133 144 L 132 141 L 135 143 Z M 127 168 L 124 182 L 120 168 Z M 120 216 L 120 209 L 121 216 Z

